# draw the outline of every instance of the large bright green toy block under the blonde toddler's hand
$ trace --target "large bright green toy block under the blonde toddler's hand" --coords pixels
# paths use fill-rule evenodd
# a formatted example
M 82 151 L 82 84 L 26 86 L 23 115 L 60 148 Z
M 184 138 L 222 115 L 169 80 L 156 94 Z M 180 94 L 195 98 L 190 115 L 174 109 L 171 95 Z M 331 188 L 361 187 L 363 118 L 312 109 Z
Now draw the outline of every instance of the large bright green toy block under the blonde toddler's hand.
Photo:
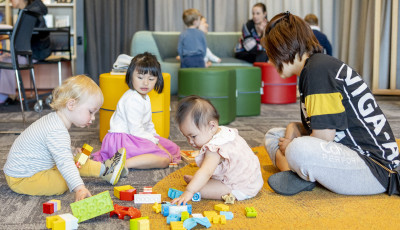
M 108 191 L 74 202 L 70 206 L 73 215 L 78 218 L 78 223 L 114 210 Z

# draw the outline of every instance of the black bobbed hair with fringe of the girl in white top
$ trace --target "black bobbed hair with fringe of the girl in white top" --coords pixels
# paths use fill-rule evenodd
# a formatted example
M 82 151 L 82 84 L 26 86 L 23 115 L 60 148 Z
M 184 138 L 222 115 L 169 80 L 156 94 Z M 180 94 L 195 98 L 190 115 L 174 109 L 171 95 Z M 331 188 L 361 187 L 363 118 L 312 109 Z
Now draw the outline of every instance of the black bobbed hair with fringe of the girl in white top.
M 132 75 L 135 70 L 139 74 L 150 74 L 152 76 L 156 76 L 157 82 L 154 86 L 154 90 L 157 93 L 162 92 L 164 88 L 164 79 L 162 77 L 160 63 L 157 61 L 156 56 L 151 53 L 144 52 L 132 58 L 132 61 L 129 64 L 128 70 L 125 75 L 125 82 L 131 89 L 134 89 Z

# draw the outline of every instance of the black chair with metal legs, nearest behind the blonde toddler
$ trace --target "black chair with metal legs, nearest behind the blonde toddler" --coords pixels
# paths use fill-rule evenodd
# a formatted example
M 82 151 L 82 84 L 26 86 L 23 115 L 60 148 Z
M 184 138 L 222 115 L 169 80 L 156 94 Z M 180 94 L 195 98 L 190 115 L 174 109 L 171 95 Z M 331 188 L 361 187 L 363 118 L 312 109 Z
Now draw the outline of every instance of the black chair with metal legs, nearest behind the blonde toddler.
M 29 107 L 20 70 L 30 70 L 30 77 L 33 83 L 33 88 L 35 90 L 35 96 L 36 96 L 35 108 L 37 108 L 37 112 L 41 111 L 43 108 L 41 101 L 39 101 L 39 96 L 36 89 L 35 74 L 33 71 L 33 63 L 32 63 L 32 50 L 31 50 L 31 38 L 32 38 L 33 28 L 36 24 L 37 16 L 38 15 L 36 13 L 25 9 L 19 12 L 17 22 L 14 26 L 10 38 L 10 50 L 2 50 L 3 52 L 11 53 L 11 63 L 0 62 L 0 69 L 10 69 L 15 71 L 24 127 L 26 124 L 24 104 L 26 110 L 29 110 Z M 28 61 L 28 64 L 20 64 L 18 62 L 18 56 L 25 57 Z

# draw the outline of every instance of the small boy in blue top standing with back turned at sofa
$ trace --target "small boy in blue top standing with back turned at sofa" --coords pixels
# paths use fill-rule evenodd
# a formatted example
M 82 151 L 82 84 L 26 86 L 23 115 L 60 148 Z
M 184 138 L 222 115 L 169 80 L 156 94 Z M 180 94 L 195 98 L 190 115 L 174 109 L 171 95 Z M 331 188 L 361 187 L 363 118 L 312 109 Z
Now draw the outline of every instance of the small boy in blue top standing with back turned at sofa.
M 201 14 L 197 9 L 183 12 L 183 22 L 188 27 L 179 36 L 178 54 L 181 57 L 181 68 L 205 67 L 204 57 L 207 50 L 206 36 L 197 29 Z

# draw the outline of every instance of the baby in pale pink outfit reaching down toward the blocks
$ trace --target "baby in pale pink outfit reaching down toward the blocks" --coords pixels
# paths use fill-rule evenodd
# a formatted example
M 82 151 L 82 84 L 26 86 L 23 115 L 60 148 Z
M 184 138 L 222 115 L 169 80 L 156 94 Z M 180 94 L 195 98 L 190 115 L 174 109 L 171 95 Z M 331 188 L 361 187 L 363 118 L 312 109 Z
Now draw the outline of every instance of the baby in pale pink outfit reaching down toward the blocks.
M 194 176 L 185 175 L 185 192 L 172 203 L 186 204 L 194 193 L 220 200 L 232 193 L 237 200 L 257 195 L 264 181 L 260 162 L 236 129 L 218 125 L 219 114 L 206 99 L 189 96 L 179 102 L 176 120 L 182 134 L 200 149 Z

